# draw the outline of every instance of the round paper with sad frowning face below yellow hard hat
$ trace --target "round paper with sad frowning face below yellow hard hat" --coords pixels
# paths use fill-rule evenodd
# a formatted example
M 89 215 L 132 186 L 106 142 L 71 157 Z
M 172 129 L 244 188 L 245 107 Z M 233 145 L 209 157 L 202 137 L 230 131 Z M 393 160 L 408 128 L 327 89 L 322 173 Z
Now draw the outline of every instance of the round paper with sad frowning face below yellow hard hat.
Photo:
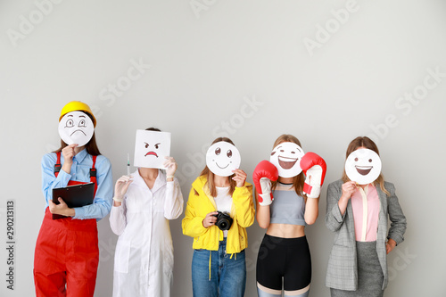
M 93 120 L 83 111 L 71 111 L 59 121 L 59 136 L 65 144 L 87 144 L 95 132 Z

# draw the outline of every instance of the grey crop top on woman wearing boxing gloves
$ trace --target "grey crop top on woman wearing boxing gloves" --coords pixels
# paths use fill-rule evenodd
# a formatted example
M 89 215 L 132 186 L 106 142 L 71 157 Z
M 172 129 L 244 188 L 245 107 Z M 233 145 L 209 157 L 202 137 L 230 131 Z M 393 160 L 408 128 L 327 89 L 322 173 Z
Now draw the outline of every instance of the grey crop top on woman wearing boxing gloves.
M 273 197 L 274 201 L 269 206 L 269 223 L 306 226 L 303 217 L 305 201 L 296 194 L 293 185 L 277 184 Z

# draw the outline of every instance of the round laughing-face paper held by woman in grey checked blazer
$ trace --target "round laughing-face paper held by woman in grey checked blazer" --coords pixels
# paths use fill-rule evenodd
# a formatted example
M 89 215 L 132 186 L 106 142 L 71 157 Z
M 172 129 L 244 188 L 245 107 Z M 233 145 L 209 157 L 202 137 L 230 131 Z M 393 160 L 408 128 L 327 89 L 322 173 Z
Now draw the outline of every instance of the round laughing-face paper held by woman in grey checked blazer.
M 369 149 L 358 149 L 351 153 L 345 161 L 345 173 L 351 181 L 359 185 L 373 183 L 381 173 L 381 159 Z

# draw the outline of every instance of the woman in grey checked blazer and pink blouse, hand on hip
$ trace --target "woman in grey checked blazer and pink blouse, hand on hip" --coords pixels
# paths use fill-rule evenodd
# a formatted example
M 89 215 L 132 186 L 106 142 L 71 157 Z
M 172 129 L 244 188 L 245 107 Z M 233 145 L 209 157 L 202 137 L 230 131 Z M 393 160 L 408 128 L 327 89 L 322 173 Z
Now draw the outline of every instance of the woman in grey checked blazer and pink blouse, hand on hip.
M 346 156 L 359 148 L 367 148 L 379 155 L 376 144 L 370 138 L 357 137 L 349 144 Z M 354 210 L 351 201 L 362 199 L 358 198 L 361 196 L 364 200 L 360 203 L 366 204 L 372 203 L 375 197 L 375 214 L 371 213 L 373 206 L 368 209 L 364 206 L 366 212 L 369 210 L 368 215 Z M 368 218 L 363 220 L 363 216 Z M 391 220 L 389 230 L 388 218 Z M 365 234 L 361 234 L 365 233 L 366 227 L 355 230 L 355 219 L 357 224 L 360 219 L 362 224 L 376 227 L 368 229 L 367 239 Z M 406 231 L 406 217 L 395 194 L 395 187 L 384 182 L 381 174 L 373 183 L 359 186 L 344 171 L 343 178 L 331 183 L 327 189 L 326 227 L 335 232 L 326 271 L 326 286 L 330 287 L 332 297 L 383 296 L 388 282 L 386 254 L 404 240 Z

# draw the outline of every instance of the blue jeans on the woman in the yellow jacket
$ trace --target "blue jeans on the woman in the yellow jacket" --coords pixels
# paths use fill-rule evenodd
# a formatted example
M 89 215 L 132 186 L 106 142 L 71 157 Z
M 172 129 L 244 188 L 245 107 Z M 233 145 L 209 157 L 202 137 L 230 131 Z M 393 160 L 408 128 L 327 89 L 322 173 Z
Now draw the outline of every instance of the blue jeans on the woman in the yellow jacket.
M 245 285 L 244 251 L 231 257 L 231 254 L 226 253 L 226 238 L 219 242 L 219 251 L 194 250 L 192 259 L 194 297 L 243 297 Z

